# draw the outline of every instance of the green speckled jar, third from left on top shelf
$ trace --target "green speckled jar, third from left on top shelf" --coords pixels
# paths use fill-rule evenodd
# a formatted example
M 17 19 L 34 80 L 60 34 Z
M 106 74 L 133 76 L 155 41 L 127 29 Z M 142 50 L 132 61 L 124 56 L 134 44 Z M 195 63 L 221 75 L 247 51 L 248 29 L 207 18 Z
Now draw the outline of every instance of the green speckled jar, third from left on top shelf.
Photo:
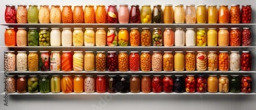
M 29 5 L 28 10 L 28 23 L 38 23 L 39 21 L 39 10 L 37 5 Z

